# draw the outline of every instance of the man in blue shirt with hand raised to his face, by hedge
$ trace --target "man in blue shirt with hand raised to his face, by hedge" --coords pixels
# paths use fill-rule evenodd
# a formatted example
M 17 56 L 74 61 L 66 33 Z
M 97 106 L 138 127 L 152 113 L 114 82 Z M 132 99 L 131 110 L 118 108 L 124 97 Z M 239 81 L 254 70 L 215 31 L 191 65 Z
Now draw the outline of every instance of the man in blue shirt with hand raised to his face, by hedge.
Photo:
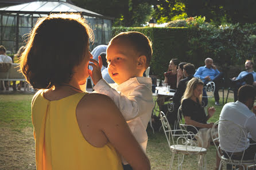
M 194 74 L 194 77 L 200 78 L 203 82 L 204 85 L 207 84 L 209 81 L 213 81 L 215 83 L 215 91 L 214 91 L 214 98 L 215 98 L 215 105 L 220 105 L 219 104 L 219 91 L 218 91 L 218 86 L 219 82 L 223 77 L 223 73 L 220 73 L 218 69 L 216 69 L 216 66 L 214 65 L 214 61 L 212 58 L 206 58 L 205 61 L 205 66 L 201 66 L 196 70 L 196 73 Z M 206 95 L 206 92 L 204 90 L 203 96 Z

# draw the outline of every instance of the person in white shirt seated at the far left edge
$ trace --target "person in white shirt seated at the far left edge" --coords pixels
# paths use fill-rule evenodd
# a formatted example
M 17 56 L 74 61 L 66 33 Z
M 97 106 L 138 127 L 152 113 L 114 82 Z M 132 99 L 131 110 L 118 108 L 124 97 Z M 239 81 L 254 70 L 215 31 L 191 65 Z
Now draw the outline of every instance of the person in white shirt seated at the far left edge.
M 13 63 L 11 57 L 6 55 L 6 48 L 3 45 L 0 45 L 0 62 Z M 0 89 L 3 90 L 5 86 L 5 89 L 9 90 L 9 83 L 9 81 L 5 81 L 5 83 L 0 81 Z

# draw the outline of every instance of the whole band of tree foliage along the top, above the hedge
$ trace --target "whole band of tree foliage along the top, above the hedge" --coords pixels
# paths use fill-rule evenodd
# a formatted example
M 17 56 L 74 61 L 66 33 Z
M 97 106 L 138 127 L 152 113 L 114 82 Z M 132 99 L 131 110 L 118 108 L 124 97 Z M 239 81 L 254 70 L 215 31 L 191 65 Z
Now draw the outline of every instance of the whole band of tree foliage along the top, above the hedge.
M 205 16 L 214 25 L 255 23 L 255 0 L 72 0 L 75 5 L 114 17 L 114 26 L 142 26 L 153 16 L 158 23 Z M 153 7 L 153 9 L 152 9 Z

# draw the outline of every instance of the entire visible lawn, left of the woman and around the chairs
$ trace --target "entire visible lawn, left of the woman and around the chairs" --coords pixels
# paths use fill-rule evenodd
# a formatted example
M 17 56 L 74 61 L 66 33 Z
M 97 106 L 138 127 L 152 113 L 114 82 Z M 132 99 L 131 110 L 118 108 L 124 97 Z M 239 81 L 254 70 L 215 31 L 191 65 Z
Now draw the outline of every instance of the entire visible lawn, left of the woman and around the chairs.
M 32 94 L 0 94 L 0 169 L 36 169 L 30 108 L 32 97 Z M 215 106 L 214 98 L 210 98 L 208 106 Z M 219 120 L 222 106 L 215 106 L 216 112 L 208 122 Z M 153 134 L 149 127 L 148 135 L 147 155 L 152 169 L 168 169 L 171 155 L 164 132 Z M 215 154 L 214 146 L 208 148 L 207 169 L 215 168 Z M 177 157 L 173 169 L 177 169 Z M 197 169 L 196 156 L 185 156 L 183 169 Z

